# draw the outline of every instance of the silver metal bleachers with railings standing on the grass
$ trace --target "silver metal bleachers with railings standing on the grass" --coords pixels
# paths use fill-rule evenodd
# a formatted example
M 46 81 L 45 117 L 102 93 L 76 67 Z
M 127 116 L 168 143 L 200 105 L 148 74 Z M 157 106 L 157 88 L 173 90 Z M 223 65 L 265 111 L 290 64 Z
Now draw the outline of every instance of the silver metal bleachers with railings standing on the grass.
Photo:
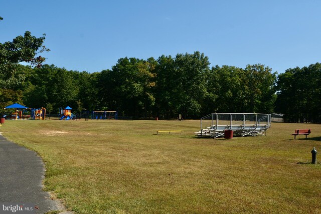
M 201 118 L 198 137 L 224 137 L 226 130 L 236 136 L 265 136 L 271 127 L 271 114 L 211 113 Z

